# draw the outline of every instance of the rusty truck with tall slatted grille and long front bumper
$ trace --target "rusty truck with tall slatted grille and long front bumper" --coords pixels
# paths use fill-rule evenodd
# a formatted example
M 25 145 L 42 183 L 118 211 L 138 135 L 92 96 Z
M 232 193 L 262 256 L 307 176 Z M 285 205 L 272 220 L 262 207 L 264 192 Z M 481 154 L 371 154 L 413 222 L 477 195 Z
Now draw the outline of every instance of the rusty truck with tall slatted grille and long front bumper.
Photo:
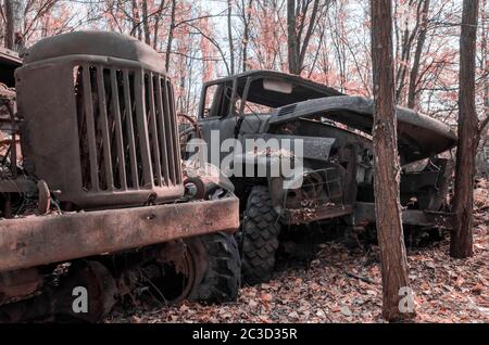
M 187 192 L 163 65 L 104 31 L 0 51 L 0 321 L 237 297 L 238 199 Z

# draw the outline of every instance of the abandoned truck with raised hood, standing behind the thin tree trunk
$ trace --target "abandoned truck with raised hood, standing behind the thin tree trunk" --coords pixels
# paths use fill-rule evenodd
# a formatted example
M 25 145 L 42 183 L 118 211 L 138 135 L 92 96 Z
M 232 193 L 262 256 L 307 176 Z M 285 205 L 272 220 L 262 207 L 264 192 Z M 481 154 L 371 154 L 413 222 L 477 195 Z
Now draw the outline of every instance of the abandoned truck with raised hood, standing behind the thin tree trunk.
M 442 205 L 452 163 L 437 154 L 453 148 L 456 137 L 448 126 L 412 110 L 398 107 L 397 118 L 403 221 L 450 227 L 451 217 L 442 212 Z M 269 148 L 246 148 L 230 159 L 235 165 L 230 179 L 241 201 L 239 239 L 244 282 L 254 284 L 271 278 L 279 234 L 292 225 L 335 219 L 336 225 L 356 231 L 375 223 L 373 100 L 344 95 L 298 76 L 250 71 L 203 85 L 197 123 L 198 133 L 208 143 L 208 156 L 212 155 L 213 140 L 222 144 L 229 138 L 240 148 L 247 146 L 248 139 L 302 144 L 302 183 L 296 188 L 285 188 L 284 182 L 297 176 L 281 171 L 272 176 L 269 168 L 261 177 L 240 170 L 249 165 L 266 167 L 274 159 L 292 159 L 297 152 L 290 146 L 280 146 L 278 154 Z M 221 163 L 228 150 L 223 151 Z

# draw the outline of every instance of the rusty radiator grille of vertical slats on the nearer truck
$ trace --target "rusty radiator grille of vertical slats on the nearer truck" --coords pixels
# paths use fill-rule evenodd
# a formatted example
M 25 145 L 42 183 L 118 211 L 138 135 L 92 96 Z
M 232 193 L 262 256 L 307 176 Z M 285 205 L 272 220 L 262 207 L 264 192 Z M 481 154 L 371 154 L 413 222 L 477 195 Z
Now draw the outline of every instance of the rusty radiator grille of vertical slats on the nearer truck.
M 91 64 L 74 73 L 84 190 L 181 183 L 170 80 L 143 69 Z

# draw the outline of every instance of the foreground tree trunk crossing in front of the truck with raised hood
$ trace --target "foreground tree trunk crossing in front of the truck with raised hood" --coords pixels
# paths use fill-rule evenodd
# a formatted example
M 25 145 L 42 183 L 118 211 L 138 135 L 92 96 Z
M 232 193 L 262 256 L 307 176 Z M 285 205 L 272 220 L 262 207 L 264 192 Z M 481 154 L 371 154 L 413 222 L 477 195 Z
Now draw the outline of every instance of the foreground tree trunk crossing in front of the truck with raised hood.
M 374 79 L 374 191 L 383 271 L 383 315 L 388 321 L 414 316 L 399 203 L 391 0 L 371 0 Z M 404 296 L 408 294 L 408 296 Z M 408 298 L 408 301 L 405 299 Z M 408 306 L 402 305 L 408 302 Z M 405 308 L 402 308 L 405 307 Z

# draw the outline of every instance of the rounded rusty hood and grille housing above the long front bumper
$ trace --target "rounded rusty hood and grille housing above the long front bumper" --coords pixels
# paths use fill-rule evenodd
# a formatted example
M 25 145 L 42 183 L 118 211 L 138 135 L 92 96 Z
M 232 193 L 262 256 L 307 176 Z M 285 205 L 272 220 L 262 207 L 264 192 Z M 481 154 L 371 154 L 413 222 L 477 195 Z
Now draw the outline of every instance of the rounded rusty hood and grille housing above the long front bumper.
M 26 170 L 75 207 L 181 197 L 175 101 L 162 66 L 150 47 L 112 33 L 35 44 L 16 71 Z

